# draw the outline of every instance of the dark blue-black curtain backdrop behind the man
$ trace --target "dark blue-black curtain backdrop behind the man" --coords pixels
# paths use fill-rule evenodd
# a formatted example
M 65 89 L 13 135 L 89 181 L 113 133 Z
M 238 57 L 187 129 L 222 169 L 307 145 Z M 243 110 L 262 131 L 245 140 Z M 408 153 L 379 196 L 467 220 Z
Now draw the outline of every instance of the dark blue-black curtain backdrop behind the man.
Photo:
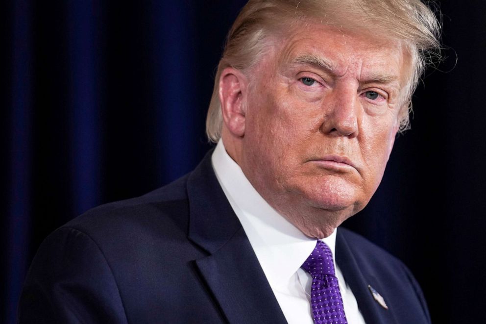
M 213 76 L 244 2 L 1 2 L 0 322 L 15 322 L 49 232 L 170 182 L 210 148 Z M 411 268 L 434 323 L 486 323 L 486 2 L 440 8 L 445 72 L 428 71 L 412 130 L 345 225 Z

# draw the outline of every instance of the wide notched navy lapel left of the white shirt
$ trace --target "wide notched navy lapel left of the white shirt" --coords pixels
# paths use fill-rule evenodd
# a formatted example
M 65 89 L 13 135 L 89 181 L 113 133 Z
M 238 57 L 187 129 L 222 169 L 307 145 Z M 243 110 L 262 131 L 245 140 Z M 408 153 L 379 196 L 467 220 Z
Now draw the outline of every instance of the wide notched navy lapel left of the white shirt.
M 195 263 L 230 323 L 286 323 L 243 227 L 211 165 L 210 151 L 190 175 L 189 238 L 208 256 Z

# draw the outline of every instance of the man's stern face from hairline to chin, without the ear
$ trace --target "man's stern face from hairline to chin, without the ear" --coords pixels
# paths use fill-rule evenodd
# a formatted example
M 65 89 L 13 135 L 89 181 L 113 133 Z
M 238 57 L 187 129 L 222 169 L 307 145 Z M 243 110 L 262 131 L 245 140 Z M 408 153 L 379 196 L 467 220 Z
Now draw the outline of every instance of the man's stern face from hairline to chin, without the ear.
M 316 24 L 294 33 L 248 77 L 238 162 L 305 234 L 329 235 L 378 187 L 408 62 L 399 43 Z

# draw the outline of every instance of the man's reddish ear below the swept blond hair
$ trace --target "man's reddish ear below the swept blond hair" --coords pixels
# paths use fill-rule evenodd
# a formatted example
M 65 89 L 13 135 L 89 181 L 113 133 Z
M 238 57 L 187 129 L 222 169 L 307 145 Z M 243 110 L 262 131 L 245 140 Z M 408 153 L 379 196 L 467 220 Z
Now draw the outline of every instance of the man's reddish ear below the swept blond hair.
M 246 85 L 243 73 L 231 67 L 224 69 L 219 77 L 219 102 L 224 125 L 237 137 L 244 135 Z

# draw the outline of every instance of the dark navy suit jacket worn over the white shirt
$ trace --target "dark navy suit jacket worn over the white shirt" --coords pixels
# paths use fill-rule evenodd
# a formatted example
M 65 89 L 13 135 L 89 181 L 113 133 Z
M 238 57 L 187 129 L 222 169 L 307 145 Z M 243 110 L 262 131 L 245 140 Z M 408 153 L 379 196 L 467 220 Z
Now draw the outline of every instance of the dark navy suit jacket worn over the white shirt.
M 412 274 L 387 252 L 339 228 L 336 258 L 367 324 L 430 323 Z M 210 153 L 168 186 L 97 207 L 49 235 L 27 275 L 19 321 L 286 323 Z

